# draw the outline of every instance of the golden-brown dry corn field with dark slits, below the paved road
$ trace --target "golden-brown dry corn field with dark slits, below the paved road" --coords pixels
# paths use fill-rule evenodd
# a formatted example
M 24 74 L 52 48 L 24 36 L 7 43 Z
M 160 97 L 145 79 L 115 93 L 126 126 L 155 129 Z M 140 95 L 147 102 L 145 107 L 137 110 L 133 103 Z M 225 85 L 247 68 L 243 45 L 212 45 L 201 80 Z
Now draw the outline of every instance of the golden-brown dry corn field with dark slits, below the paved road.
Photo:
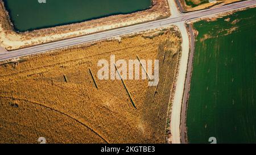
M 180 45 L 170 28 L 1 64 L 0 143 L 166 143 Z M 98 79 L 110 55 L 158 59 L 158 86 Z

